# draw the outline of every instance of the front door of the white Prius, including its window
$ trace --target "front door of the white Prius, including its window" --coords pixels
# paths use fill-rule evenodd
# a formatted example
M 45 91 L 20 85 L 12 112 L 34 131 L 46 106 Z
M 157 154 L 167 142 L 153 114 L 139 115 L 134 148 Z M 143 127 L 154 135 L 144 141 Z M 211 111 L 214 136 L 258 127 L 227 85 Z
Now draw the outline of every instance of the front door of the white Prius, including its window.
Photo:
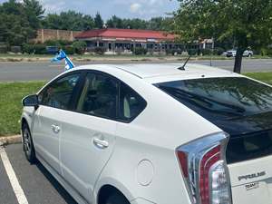
M 38 157 L 61 173 L 59 144 L 62 134 L 61 114 L 69 110 L 81 73 L 70 73 L 55 80 L 39 93 L 39 108 L 34 114 L 34 147 Z

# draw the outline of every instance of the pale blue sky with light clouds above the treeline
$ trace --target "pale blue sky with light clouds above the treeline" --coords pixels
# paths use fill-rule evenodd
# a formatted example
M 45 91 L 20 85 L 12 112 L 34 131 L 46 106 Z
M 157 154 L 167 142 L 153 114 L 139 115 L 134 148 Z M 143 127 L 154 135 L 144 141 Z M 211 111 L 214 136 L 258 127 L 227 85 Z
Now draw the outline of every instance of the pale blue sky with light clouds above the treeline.
M 0 0 L 0 3 L 6 0 Z M 20 0 L 19 0 L 20 1 Z M 75 10 L 87 15 L 100 12 L 103 19 L 112 15 L 122 18 L 150 19 L 165 16 L 177 10 L 178 0 L 40 0 L 46 13 L 60 13 Z

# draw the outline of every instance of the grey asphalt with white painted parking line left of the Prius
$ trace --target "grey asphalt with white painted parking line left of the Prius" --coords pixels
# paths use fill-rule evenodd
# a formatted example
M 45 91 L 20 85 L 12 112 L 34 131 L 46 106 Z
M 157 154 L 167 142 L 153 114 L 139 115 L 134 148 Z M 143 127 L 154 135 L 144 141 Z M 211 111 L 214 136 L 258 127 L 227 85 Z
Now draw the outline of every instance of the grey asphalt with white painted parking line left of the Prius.
M 30 165 L 22 144 L 0 147 L 0 155 L 0 204 L 76 203 L 41 163 Z

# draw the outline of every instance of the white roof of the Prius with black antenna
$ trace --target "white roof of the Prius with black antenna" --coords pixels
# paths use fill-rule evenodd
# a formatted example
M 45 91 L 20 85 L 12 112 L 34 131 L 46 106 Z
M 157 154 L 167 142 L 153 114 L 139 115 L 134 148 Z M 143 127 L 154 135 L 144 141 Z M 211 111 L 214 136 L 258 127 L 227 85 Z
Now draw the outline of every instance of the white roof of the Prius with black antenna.
M 224 77 L 224 76 L 239 76 L 238 74 L 222 70 L 219 68 L 200 65 L 196 63 L 188 63 L 184 70 L 179 68 L 180 63 L 126 63 L 126 64 L 90 64 L 78 67 L 79 69 L 94 69 L 94 70 L 111 70 L 131 73 L 135 77 L 150 81 L 151 83 L 159 83 L 173 80 L 175 78 L 192 79 L 201 78 L 203 75 L 207 77 Z

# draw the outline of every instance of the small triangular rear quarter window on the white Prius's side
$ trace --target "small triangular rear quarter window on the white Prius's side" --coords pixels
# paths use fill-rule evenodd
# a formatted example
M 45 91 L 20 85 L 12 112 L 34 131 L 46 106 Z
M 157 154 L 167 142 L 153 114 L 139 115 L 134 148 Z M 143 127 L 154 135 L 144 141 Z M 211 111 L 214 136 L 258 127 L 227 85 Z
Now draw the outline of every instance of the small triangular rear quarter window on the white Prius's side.
M 128 85 L 121 83 L 120 86 L 120 111 L 122 121 L 131 121 L 137 117 L 146 107 L 146 102 L 141 96 L 133 91 Z

